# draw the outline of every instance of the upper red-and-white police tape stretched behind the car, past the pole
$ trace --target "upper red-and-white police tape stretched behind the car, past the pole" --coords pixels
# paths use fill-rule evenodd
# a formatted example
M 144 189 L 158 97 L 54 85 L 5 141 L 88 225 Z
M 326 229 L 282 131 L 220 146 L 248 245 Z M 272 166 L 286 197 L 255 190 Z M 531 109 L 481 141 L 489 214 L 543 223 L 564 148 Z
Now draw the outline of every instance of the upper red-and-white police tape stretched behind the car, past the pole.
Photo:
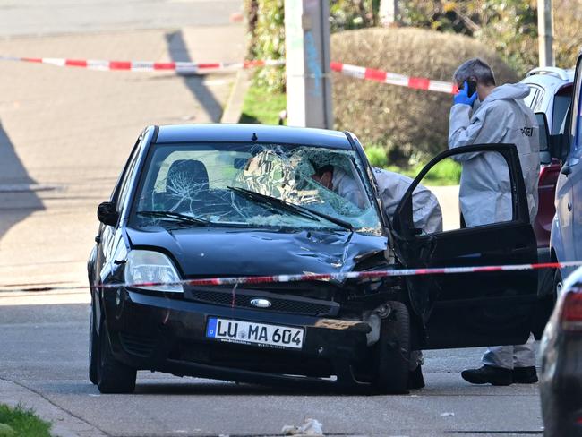
M 20 61 L 37 64 L 51 64 L 59 67 L 81 67 L 90 70 L 100 71 L 129 71 L 129 72 L 175 72 L 178 74 L 204 74 L 216 73 L 219 71 L 239 70 L 243 68 L 254 68 L 261 66 L 284 65 L 285 60 L 265 60 L 265 61 L 244 61 L 243 63 L 206 63 L 198 64 L 194 62 L 150 62 L 150 61 L 105 61 L 98 59 L 67 59 L 60 57 L 15 57 L 0 56 L 0 61 Z M 389 85 L 412 88 L 415 90 L 429 90 L 455 94 L 457 86 L 447 81 L 432 81 L 424 77 L 411 77 L 404 74 L 389 73 L 373 68 L 366 68 L 358 65 L 342 64 L 331 62 L 330 69 L 333 72 L 346 76 L 364 79 L 368 81 L 379 81 Z

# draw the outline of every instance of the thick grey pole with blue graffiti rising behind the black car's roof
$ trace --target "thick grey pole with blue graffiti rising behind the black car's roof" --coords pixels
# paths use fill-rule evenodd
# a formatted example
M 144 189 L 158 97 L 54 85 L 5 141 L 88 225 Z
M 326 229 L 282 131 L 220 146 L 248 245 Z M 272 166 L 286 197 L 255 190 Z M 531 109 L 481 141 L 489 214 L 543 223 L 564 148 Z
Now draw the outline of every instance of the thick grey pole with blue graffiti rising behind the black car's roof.
M 287 124 L 333 127 L 330 4 L 285 0 Z

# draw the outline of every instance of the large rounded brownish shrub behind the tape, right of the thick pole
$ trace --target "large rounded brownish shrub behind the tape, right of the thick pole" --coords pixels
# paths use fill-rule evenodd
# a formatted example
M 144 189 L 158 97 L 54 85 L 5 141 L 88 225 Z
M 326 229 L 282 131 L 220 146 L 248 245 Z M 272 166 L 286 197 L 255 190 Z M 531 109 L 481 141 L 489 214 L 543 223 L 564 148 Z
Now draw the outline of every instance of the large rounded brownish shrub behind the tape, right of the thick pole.
M 492 48 L 475 39 L 414 28 L 347 30 L 331 36 L 331 56 L 346 64 L 451 81 L 458 64 L 479 56 L 498 83 L 517 81 Z M 366 144 L 381 144 L 390 164 L 414 165 L 447 148 L 451 96 L 334 73 L 336 128 Z

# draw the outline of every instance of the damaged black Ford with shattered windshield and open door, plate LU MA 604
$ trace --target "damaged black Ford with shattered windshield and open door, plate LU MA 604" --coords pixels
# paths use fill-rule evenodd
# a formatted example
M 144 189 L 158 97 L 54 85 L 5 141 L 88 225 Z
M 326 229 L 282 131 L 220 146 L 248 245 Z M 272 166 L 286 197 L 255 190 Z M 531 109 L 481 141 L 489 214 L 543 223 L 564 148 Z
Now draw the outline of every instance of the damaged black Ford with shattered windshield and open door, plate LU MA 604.
M 436 234 L 416 228 L 415 187 L 442 159 L 475 152 L 508 167 L 513 218 Z M 184 282 L 535 262 L 513 145 L 468 146 L 432 159 L 392 227 L 352 133 L 150 126 L 98 218 L 88 264 L 90 380 L 102 392 L 133 391 L 144 369 L 399 393 L 407 390 L 411 349 L 521 344 L 533 329 L 537 278 L 527 270 L 235 287 Z

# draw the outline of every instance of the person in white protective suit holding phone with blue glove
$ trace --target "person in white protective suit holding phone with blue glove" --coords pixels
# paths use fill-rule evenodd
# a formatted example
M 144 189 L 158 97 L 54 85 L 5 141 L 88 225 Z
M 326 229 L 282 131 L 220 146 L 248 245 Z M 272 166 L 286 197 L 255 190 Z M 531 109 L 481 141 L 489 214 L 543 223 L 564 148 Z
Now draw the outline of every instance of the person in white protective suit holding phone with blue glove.
M 459 92 L 450 109 L 449 149 L 484 143 L 515 144 L 524 176 L 530 219 L 537 213 L 540 170 L 539 134 L 534 113 L 522 99 L 525 84 L 496 86 L 491 67 L 469 59 L 453 75 Z M 475 92 L 470 88 L 475 88 Z M 479 99 L 478 101 L 477 98 Z M 459 203 L 466 227 L 512 219 L 509 171 L 498 153 L 479 152 L 453 157 L 462 165 Z M 489 347 L 483 366 L 461 373 L 474 384 L 509 385 L 537 382 L 534 337 L 525 345 Z

